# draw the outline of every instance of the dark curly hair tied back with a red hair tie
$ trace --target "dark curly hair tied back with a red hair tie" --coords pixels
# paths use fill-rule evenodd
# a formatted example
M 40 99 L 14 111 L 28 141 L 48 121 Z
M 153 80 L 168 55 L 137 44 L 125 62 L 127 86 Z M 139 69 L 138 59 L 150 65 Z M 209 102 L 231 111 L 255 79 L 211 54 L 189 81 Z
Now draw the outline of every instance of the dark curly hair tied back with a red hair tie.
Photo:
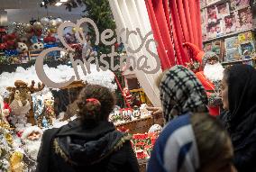
M 105 86 L 87 85 L 78 95 L 78 116 L 82 122 L 107 121 L 115 96 Z

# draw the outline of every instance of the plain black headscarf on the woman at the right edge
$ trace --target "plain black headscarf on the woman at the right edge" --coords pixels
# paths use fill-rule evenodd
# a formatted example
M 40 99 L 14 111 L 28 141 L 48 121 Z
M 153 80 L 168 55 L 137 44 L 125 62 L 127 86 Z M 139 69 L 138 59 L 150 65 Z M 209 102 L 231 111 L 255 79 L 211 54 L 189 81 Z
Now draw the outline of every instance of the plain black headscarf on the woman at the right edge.
M 227 129 L 236 151 L 256 143 L 256 70 L 249 65 L 233 65 L 227 83 Z

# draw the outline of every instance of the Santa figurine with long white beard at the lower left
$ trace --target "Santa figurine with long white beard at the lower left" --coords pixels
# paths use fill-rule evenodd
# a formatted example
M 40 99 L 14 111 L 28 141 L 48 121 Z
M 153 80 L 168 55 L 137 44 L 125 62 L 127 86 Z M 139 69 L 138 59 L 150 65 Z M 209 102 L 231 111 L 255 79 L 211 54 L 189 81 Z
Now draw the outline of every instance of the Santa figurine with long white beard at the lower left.
M 24 150 L 24 162 L 30 172 L 36 169 L 36 159 L 41 146 L 41 137 L 43 131 L 38 126 L 31 126 L 23 131 L 21 140 Z

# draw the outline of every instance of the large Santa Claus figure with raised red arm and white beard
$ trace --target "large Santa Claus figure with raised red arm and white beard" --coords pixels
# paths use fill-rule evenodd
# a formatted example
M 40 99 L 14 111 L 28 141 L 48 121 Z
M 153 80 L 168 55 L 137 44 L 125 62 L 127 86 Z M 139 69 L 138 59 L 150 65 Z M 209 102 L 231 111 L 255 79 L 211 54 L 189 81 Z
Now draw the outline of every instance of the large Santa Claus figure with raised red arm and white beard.
M 204 52 L 189 42 L 183 44 L 192 51 L 194 59 L 201 64 L 201 70 L 196 73 L 197 78 L 206 89 L 208 95 L 209 113 L 216 116 L 220 114 L 222 99 L 220 96 L 220 85 L 223 78 L 224 68 L 215 52 Z

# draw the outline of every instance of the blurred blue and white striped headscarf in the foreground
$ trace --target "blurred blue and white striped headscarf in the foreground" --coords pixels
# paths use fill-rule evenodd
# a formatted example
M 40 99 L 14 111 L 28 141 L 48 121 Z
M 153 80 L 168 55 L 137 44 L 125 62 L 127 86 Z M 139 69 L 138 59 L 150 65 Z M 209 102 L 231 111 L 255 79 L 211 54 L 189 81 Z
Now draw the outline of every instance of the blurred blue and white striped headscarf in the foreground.
M 199 163 L 190 114 L 185 114 L 169 122 L 160 133 L 147 172 L 196 172 Z

